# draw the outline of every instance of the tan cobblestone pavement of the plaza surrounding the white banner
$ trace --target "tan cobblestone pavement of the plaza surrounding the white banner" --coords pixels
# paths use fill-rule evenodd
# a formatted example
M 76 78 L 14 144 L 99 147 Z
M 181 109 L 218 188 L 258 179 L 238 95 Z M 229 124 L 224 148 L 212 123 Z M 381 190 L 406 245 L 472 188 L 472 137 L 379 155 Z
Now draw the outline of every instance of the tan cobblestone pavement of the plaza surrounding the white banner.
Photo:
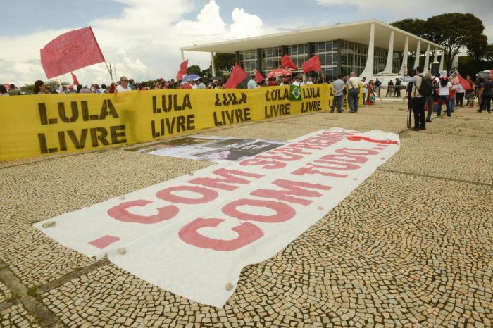
M 493 115 L 458 108 L 410 132 L 404 105 L 385 103 L 200 134 L 289 140 L 332 126 L 401 132 L 401 149 L 284 250 L 244 268 L 222 309 L 32 227 L 211 163 L 125 147 L 0 163 L 0 326 L 492 327 Z

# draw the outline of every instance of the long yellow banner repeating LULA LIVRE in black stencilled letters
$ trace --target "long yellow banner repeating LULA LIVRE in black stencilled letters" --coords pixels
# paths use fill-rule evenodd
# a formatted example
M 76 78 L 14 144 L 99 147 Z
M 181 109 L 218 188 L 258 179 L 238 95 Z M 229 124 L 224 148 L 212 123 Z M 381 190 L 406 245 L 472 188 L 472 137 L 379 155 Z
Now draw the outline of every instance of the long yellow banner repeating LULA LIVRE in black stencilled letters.
M 330 84 L 301 87 L 300 101 L 290 100 L 291 93 L 285 86 L 1 97 L 0 160 L 121 146 L 328 111 L 332 103 Z

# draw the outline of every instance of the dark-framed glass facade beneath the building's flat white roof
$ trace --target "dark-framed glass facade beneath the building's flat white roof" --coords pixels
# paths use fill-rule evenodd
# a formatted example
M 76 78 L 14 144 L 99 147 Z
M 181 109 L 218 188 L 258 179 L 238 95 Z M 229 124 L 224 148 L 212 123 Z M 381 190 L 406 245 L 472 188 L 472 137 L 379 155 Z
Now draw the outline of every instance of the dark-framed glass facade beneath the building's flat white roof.
M 382 72 L 385 69 L 387 52 L 387 49 L 375 46 L 373 74 Z M 258 58 L 258 53 L 261 58 Z M 253 74 L 255 70 L 260 70 L 265 75 L 270 70 L 280 67 L 280 59 L 284 54 L 289 55 L 294 65 L 298 66 L 299 70 L 297 72 L 301 72 L 301 64 L 307 61 L 308 58 L 318 55 L 322 65 L 322 74 L 325 74 L 328 80 L 335 80 L 339 74 L 349 75 L 349 72 L 355 72 L 356 75 L 360 75 L 363 72 L 368 57 L 368 45 L 339 39 L 314 42 L 312 44 L 276 46 L 264 48 L 260 51 L 238 51 L 237 59 L 245 72 Z M 394 73 L 399 72 L 401 63 L 402 54 L 394 51 L 392 59 Z M 260 68 L 258 67 L 259 64 Z

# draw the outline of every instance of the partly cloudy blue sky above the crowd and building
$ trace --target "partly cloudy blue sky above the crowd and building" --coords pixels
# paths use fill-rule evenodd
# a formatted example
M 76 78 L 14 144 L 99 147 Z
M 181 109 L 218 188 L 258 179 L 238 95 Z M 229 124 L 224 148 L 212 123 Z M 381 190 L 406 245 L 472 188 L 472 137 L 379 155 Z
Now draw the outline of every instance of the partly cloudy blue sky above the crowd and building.
M 410 8 L 419 8 L 412 11 Z M 92 0 L 2 1 L 0 82 L 45 79 L 39 49 L 63 32 L 91 25 L 107 61 L 137 80 L 173 77 L 180 46 L 268 34 L 280 30 L 376 18 L 428 18 L 470 12 L 485 22 L 493 42 L 492 0 Z M 190 64 L 208 67 L 210 58 L 190 54 Z M 104 65 L 76 72 L 85 83 L 107 82 Z M 67 76 L 62 80 L 70 80 Z

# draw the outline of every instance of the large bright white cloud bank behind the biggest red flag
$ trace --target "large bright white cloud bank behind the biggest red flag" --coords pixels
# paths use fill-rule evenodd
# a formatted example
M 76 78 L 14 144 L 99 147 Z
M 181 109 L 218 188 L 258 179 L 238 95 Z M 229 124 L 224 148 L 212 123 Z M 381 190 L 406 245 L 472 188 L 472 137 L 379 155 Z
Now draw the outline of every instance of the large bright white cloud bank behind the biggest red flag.
M 92 26 L 106 61 L 116 64 L 118 77 L 126 75 L 135 80 L 158 77 L 171 79 L 180 68 L 180 47 L 218 40 L 258 35 L 262 20 L 241 8 L 232 12 L 230 27 L 220 17 L 220 8 L 211 0 L 196 20 L 182 20 L 193 11 L 192 0 L 117 0 L 123 8 L 116 18 L 101 18 L 87 22 Z M 83 27 L 83 26 L 81 26 Z M 0 82 L 22 85 L 46 80 L 39 63 L 39 49 L 56 36 L 68 32 L 44 30 L 18 37 L 0 37 Z M 210 53 L 187 52 L 189 65 L 210 65 Z M 113 68 L 114 69 L 114 68 Z M 74 72 L 82 84 L 108 83 L 104 63 L 81 68 Z M 70 73 L 61 80 L 71 82 Z

